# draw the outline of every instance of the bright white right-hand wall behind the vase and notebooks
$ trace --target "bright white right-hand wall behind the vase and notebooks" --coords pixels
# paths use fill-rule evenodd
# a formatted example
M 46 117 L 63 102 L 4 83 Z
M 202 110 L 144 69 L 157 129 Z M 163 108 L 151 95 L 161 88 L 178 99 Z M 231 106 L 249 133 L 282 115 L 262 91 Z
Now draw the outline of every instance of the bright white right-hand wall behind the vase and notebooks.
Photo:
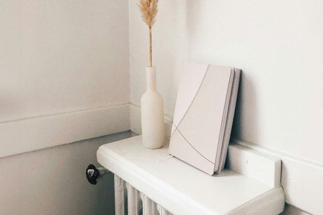
M 129 1 L 129 8 L 131 102 L 140 105 L 148 32 L 135 1 Z M 183 61 L 241 68 L 232 136 L 317 165 L 323 176 L 322 8 L 318 0 L 159 1 L 153 64 L 165 114 L 174 114 Z M 284 171 L 288 192 L 298 183 L 291 183 L 288 168 Z M 297 182 L 312 177 L 300 176 Z M 301 202 L 288 193 L 287 200 Z

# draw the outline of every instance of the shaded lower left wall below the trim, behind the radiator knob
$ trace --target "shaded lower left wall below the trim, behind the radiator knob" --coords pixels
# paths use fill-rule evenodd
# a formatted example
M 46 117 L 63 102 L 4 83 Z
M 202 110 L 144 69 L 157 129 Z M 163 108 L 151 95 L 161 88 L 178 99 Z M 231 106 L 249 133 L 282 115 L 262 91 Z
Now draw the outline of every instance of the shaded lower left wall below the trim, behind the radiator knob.
M 96 167 L 102 144 L 131 137 L 124 132 L 0 158 L 1 214 L 114 214 L 113 175 L 91 185 L 85 177 Z

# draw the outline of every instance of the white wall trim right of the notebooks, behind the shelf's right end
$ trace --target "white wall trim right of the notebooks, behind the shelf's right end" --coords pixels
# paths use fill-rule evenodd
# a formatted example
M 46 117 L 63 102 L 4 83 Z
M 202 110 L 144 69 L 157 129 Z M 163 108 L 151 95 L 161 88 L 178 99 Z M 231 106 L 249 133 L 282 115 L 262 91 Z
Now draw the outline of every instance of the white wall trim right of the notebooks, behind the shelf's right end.
M 282 160 L 281 183 L 285 201 L 308 213 L 323 214 L 320 204 L 323 198 L 323 165 L 235 138 L 231 138 L 231 142 L 279 157 Z

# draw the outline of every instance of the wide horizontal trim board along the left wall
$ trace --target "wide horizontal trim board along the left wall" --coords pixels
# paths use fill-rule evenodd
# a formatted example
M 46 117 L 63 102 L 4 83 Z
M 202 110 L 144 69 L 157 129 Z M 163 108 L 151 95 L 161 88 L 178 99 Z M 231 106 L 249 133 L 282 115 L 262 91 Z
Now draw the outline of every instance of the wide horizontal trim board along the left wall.
M 0 123 L 0 157 L 130 130 L 129 104 Z

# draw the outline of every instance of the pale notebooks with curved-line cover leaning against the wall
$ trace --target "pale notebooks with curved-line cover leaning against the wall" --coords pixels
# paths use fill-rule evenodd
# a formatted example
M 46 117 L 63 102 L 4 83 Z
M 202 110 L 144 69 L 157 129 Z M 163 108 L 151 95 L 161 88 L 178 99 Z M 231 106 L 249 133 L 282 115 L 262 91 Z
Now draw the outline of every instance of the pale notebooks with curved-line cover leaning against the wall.
M 224 168 L 240 69 L 184 64 L 169 153 L 213 175 Z

